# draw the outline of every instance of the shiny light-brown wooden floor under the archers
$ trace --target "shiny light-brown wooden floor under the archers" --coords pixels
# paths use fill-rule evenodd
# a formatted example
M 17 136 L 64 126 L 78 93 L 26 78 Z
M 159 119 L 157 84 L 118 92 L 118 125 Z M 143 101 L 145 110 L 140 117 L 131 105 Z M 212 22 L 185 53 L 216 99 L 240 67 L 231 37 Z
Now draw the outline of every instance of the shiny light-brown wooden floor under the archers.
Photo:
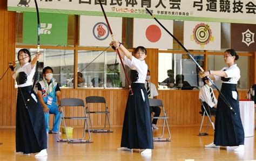
M 92 134 L 93 143 L 68 144 L 58 143 L 56 134 L 49 134 L 48 157 L 37 160 L 253 160 L 256 159 L 254 137 L 245 138 L 245 152 L 234 152 L 230 148 L 204 148 L 213 141 L 213 130 L 208 136 L 197 136 L 198 127 L 171 128 L 171 142 L 154 142 L 151 156 L 142 156 L 138 151 L 118 151 L 121 128 L 113 133 Z M 158 131 L 154 131 L 154 135 Z M 73 136 L 82 133 L 75 129 Z M 76 133 L 76 134 L 75 134 Z M 15 154 L 15 129 L 0 129 L 0 160 L 36 160 L 35 155 Z

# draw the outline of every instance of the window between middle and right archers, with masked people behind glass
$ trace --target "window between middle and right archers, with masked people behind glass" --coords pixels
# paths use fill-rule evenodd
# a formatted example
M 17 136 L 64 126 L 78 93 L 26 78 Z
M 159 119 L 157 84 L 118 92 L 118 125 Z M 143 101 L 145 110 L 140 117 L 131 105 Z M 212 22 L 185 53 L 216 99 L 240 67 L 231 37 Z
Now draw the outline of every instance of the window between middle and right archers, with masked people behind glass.
M 200 66 L 203 66 L 203 55 L 194 54 L 193 57 Z M 159 53 L 158 61 L 159 89 L 198 88 L 198 67 L 187 54 Z

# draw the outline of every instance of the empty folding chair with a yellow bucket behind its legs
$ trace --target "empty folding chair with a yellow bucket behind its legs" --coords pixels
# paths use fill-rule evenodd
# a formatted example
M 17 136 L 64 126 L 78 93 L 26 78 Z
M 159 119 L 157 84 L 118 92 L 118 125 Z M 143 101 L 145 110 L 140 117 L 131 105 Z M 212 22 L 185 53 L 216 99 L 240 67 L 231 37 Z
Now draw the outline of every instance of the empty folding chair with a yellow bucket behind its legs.
M 66 122 L 65 122 L 66 119 L 70 119 L 70 120 L 84 120 L 84 129 L 83 129 L 83 136 L 82 136 L 82 138 L 70 138 L 69 135 L 67 135 L 67 132 L 66 132 L 66 139 L 62 139 L 62 138 L 60 138 L 61 134 L 58 131 L 58 139 L 59 139 L 58 142 L 92 143 L 91 142 L 91 134 L 90 134 L 90 130 L 89 130 L 89 124 L 88 124 L 88 117 L 87 117 L 87 113 L 86 113 L 86 110 L 85 110 L 85 107 L 84 107 L 84 101 L 82 99 L 75 99 L 75 98 L 62 99 L 62 100 L 60 100 L 60 106 L 61 106 L 62 113 L 60 114 L 59 130 L 60 130 L 60 124 L 63 121 L 65 131 L 67 131 Z M 78 117 L 78 116 L 65 117 L 64 111 L 63 111 L 63 107 L 64 106 L 69 106 L 71 108 L 82 108 L 84 116 L 80 116 L 80 117 Z M 88 131 L 89 138 L 84 140 L 86 126 L 87 126 L 87 131 Z

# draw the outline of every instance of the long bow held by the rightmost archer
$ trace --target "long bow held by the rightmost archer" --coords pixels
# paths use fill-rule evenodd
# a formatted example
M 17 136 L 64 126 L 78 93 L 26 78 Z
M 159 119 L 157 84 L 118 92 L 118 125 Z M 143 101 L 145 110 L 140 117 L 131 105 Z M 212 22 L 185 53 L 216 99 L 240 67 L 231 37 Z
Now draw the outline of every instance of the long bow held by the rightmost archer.
M 157 19 L 156 17 L 154 17 L 154 16 L 152 15 L 152 13 L 150 12 L 149 9 L 146 8 L 146 10 L 147 10 L 147 12 L 149 12 L 149 14 L 152 16 L 152 18 L 154 18 L 154 20 L 156 20 L 156 22 L 157 22 L 161 27 L 163 27 L 163 29 L 164 29 L 167 33 L 169 33 L 170 36 L 171 36 L 174 40 L 176 40 L 177 43 L 186 51 L 186 53 L 190 56 L 190 58 L 194 61 L 194 63 L 196 63 L 196 65 L 198 66 L 198 68 L 200 69 L 200 71 L 201 71 L 201 72 L 205 72 L 204 69 L 203 69 L 203 68 L 198 64 L 198 62 L 194 59 L 194 57 L 192 56 L 192 54 L 184 47 L 184 45 L 181 44 L 180 41 L 179 41 L 176 37 L 174 37 L 173 34 L 172 34 L 169 30 L 167 30 L 166 27 L 165 27 L 163 24 L 161 24 L 161 23 L 158 21 L 158 19 Z M 221 99 L 223 99 L 223 101 L 227 104 L 228 108 L 233 112 L 234 115 L 236 115 L 237 113 L 235 113 L 235 111 L 234 111 L 234 109 L 232 108 L 231 104 L 227 101 L 227 99 L 226 99 L 226 97 L 224 96 L 224 94 L 220 92 L 219 88 L 215 85 L 215 83 L 213 82 L 213 80 L 212 80 L 210 77 L 208 77 L 208 76 L 207 76 L 207 79 L 212 83 L 212 85 L 214 86 L 214 88 L 218 90 L 219 96 L 220 96 Z

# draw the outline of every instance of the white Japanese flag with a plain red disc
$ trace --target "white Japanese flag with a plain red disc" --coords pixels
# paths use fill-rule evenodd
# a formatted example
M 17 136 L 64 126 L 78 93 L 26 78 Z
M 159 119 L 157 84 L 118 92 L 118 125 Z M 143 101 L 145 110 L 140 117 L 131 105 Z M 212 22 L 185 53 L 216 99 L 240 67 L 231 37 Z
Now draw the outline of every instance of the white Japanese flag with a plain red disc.
M 167 30 L 173 33 L 173 20 L 159 20 Z M 134 18 L 133 47 L 171 49 L 172 37 L 154 20 Z

